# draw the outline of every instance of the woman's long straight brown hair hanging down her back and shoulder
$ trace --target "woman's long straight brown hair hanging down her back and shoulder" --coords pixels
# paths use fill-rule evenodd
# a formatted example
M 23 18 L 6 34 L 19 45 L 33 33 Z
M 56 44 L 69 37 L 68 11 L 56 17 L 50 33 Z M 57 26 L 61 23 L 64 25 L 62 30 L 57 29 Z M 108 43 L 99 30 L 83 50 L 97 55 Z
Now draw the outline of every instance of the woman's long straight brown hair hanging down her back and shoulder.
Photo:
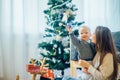
M 102 61 L 105 55 L 107 53 L 111 53 L 113 55 L 114 71 L 110 76 L 110 79 L 116 80 L 117 73 L 118 73 L 118 64 L 117 64 L 117 58 L 116 58 L 116 47 L 113 42 L 111 31 L 107 27 L 98 26 L 96 28 L 95 34 L 96 34 L 96 49 L 101 53 L 100 65 L 102 64 Z

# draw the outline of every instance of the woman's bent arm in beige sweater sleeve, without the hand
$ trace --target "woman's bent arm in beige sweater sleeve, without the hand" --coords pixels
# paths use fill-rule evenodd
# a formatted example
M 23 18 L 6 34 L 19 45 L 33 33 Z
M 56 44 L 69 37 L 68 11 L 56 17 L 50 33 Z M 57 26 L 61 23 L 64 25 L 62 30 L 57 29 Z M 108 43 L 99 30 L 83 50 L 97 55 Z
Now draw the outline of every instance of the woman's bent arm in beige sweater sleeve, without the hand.
M 112 54 L 108 53 L 103 59 L 99 70 L 94 68 L 92 65 L 89 66 L 88 72 L 93 75 L 96 79 L 104 80 L 108 79 L 114 70 L 113 67 L 113 56 Z

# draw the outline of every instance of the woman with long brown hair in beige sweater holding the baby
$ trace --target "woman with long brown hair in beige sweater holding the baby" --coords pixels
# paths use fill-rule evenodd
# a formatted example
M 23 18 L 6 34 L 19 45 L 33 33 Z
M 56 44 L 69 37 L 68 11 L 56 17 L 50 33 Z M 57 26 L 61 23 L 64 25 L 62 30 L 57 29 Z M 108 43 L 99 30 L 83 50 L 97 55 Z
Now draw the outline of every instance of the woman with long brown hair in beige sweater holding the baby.
M 107 27 L 98 26 L 93 38 L 97 51 L 93 65 L 85 60 L 79 60 L 79 65 L 84 67 L 86 74 L 91 75 L 89 80 L 116 80 L 118 64 L 111 31 Z

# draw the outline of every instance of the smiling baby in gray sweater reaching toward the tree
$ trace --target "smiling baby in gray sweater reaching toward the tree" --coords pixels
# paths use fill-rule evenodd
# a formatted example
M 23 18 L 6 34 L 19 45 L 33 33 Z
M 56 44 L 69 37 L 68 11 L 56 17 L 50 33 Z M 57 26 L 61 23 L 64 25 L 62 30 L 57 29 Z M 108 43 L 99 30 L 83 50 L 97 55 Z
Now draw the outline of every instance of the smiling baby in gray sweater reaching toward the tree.
M 87 26 L 82 26 L 79 29 L 80 39 L 74 36 L 71 27 L 67 26 L 66 29 L 69 31 L 72 44 L 77 48 L 79 59 L 87 61 L 93 60 L 95 55 L 95 48 L 94 44 L 90 41 L 90 29 Z M 71 60 L 78 60 L 76 59 L 77 57 L 75 57 L 75 55 L 77 56 L 77 53 L 72 54 Z

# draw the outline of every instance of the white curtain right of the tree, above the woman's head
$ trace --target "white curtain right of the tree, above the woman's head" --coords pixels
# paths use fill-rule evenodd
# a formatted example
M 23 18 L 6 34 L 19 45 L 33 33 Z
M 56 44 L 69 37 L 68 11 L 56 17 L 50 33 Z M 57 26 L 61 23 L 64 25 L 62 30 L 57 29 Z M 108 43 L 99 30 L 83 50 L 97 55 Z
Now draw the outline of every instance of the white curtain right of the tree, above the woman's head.
M 108 26 L 112 31 L 120 30 L 120 0 L 73 0 L 79 11 L 77 18 L 85 21 L 93 32 L 96 26 Z

